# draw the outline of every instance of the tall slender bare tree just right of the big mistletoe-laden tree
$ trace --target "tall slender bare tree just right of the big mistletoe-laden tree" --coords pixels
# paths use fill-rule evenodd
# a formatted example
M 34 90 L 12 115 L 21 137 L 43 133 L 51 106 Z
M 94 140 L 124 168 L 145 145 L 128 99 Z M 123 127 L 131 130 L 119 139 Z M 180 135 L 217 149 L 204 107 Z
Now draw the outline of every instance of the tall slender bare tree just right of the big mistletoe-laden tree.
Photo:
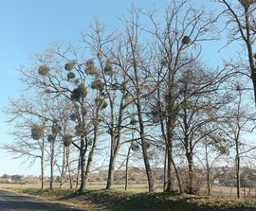
M 108 112 L 99 116 L 102 129 L 110 135 L 110 160 L 106 185 L 106 189 L 110 189 L 114 179 L 115 162 L 122 144 L 124 112 L 129 100 L 125 89 L 127 77 L 120 69 L 120 66 L 124 68 L 124 58 L 119 57 L 121 41 L 114 32 L 108 35 L 105 31 L 105 26 L 95 19 L 91 25 L 91 32 L 82 33 L 82 41 L 90 46 L 95 61 L 99 63 L 99 79 L 95 82 L 101 85 L 100 95 L 105 98 L 110 108 Z

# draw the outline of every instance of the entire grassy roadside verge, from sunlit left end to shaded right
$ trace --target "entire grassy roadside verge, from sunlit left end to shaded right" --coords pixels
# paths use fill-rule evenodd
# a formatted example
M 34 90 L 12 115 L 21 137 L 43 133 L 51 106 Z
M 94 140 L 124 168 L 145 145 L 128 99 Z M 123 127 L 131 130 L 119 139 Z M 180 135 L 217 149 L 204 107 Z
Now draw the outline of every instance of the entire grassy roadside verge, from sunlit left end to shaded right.
M 44 199 L 48 202 L 61 202 L 80 210 L 109 211 L 216 211 L 216 210 L 255 210 L 255 199 L 231 199 L 194 195 L 172 195 L 170 193 L 146 193 L 139 191 L 103 190 L 96 187 L 77 194 L 75 190 L 54 188 L 41 191 L 34 185 L 0 185 L 11 191 Z M 223 187 L 224 188 L 224 187 Z

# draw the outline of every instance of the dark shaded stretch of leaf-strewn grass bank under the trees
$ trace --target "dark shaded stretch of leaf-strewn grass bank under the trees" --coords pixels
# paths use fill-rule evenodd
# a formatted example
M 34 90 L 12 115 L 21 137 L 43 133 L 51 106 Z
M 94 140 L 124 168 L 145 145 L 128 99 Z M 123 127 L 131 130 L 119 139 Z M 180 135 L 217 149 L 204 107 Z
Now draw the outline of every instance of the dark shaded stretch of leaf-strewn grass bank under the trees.
M 71 194 L 64 199 L 76 198 L 91 202 L 109 211 L 256 211 L 255 201 L 216 199 L 170 193 L 131 193 L 114 190 L 91 190 Z

